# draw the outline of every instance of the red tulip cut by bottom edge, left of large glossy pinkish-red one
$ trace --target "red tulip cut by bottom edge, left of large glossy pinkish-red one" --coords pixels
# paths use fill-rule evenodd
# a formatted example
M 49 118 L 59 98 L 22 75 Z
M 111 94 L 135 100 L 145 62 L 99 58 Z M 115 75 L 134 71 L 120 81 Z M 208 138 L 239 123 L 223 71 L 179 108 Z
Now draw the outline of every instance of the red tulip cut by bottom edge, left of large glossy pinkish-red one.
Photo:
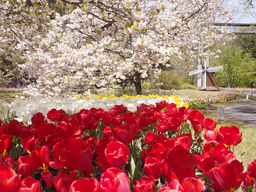
M 101 192 L 101 187 L 96 179 L 79 178 L 72 182 L 69 192 Z

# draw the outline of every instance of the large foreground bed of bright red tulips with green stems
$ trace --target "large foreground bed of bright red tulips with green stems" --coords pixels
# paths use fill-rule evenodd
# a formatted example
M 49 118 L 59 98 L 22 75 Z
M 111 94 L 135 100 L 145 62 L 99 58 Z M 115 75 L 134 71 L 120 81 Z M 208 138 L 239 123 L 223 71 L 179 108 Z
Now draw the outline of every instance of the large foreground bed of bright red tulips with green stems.
M 251 191 L 255 184 L 256 161 L 244 172 L 230 150 L 242 140 L 239 128 L 218 129 L 175 101 L 46 116 L 0 127 L 2 191 L 235 191 L 241 184 Z

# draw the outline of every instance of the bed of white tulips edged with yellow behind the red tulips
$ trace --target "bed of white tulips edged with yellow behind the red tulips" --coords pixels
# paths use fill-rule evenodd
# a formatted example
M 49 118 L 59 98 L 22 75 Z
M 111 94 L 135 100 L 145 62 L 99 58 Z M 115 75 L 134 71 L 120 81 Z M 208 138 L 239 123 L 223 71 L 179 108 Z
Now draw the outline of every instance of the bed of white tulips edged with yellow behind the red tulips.
M 63 109 L 67 114 L 72 115 L 79 112 L 81 109 L 91 109 L 91 108 L 102 108 L 105 111 L 113 108 L 115 105 L 124 105 L 131 112 L 137 110 L 137 106 L 144 103 L 147 105 L 155 105 L 155 103 L 160 101 L 175 102 L 177 106 L 188 106 L 187 103 L 181 102 L 178 97 L 169 96 L 159 96 L 159 95 L 138 95 L 138 96 L 128 96 L 123 95 L 123 97 L 116 97 L 114 95 L 106 95 L 105 97 L 83 97 L 83 98 L 44 98 L 38 99 L 33 98 L 29 100 L 16 100 L 11 104 L 0 104 L 2 112 L 7 112 L 10 114 L 7 120 L 11 120 L 15 117 L 19 122 L 23 121 L 25 124 L 31 125 L 31 117 L 41 112 L 46 116 L 46 114 L 51 109 Z M 12 116 L 11 116 L 12 115 Z

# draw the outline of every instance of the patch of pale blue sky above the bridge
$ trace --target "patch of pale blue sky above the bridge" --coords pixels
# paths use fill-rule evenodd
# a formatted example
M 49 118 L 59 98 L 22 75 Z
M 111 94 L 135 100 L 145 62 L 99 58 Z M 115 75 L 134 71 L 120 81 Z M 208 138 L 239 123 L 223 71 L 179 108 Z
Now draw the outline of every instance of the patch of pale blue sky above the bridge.
M 234 17 L 235 23 L 256 23 L 256 18 L 251 15 L 244 15 L 242 14 L 242 5 L 239 4 L 239 0 L 229 0 L 231 3 L 233 3 L 232 7 L 229 7 L 227 5 L 227 8 L 235 9 L 238 8 L 239 13 Z M 255 1 L 256 3 L 256 1 Z

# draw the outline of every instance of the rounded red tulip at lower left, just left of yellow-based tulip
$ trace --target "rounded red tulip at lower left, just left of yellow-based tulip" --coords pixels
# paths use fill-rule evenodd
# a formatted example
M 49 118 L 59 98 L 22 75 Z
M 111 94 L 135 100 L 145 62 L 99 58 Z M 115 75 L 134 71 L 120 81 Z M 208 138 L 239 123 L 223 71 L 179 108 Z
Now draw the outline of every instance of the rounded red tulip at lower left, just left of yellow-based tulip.
M 36 168 L 37 165 L 30 155 L 19 157 L 17 161 L 17 170 L 23 177 L 30 176 Z

